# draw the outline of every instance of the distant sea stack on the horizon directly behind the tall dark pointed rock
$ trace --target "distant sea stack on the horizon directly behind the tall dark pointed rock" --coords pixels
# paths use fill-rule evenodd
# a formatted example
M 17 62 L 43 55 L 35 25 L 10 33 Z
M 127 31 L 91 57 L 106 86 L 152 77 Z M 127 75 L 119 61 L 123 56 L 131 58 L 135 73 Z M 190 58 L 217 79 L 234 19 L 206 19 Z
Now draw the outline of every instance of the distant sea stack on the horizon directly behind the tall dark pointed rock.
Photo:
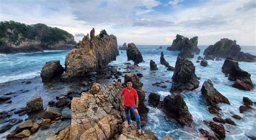
M 187 48 L 188 50 L 190 50 L 190 52 L 192 54 L 194 54 L 194 53 L 199 54 L 200 53 L 200 49 L 197 47 L 197 44 L 198 44 L 198 37 L 193 37 L 191 39 L 188 39 L 186 37 L 183 37 L 183 36 L 177 34 L 176 35 L 176 39 L 174 39 L 172 41 L 172 46 L 167 47 L 166 50 L 169 50 L 169 51 L 182 51 L 183 48 Z

